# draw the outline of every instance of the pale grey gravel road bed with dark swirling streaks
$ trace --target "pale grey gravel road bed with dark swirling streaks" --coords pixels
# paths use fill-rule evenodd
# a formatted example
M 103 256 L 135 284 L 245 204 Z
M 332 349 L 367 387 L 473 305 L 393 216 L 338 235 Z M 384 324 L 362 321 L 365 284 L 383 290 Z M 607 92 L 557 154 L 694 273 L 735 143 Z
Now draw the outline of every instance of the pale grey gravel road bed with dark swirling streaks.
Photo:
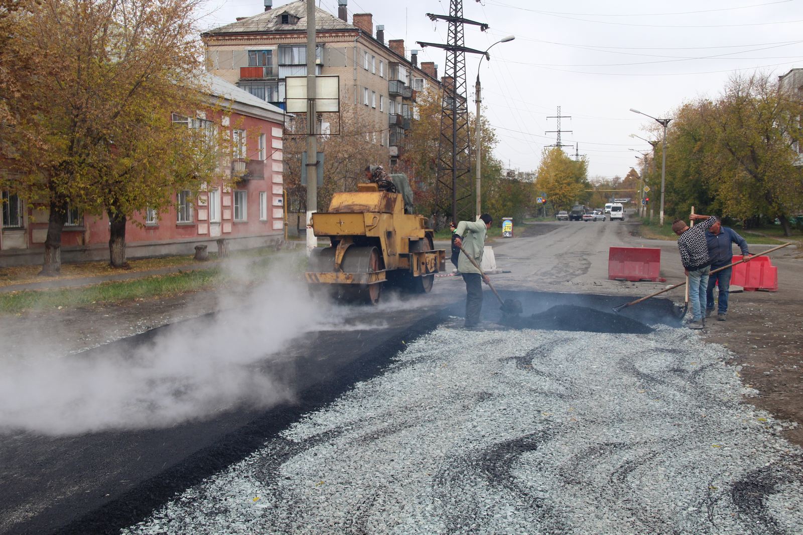
M 803 533 L 803 453 L 730 358 L 442 326 L 122 533 Z

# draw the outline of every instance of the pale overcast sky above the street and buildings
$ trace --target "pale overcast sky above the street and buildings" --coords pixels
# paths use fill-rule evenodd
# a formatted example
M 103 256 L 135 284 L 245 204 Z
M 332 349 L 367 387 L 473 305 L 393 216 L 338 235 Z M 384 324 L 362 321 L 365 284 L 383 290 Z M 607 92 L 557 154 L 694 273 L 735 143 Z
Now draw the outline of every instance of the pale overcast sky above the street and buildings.
M 274 0 L 281 6 L 284 0 Z M 319 0 L 337 14 L 337 0 Z M 202 27 L 258 14 L 262 0 L 210 0 Z M 449 0 L 349 0 L 354 13 L 372 13 L 385 25 L 385 39 L 446 43 L 446 22 L 431 22 L 426 13 L 448 14 Z M 715 96 L 734 73 L 759 69 L 773 77 L 803 67 L 803 0 L 577 0 L 559 5 L 532 0 L 463 0 L 463 17 L 487 22 L 465 26 L 466 46 L 485 50 L 506 35 L 510 43 L 491 50 L 480 80 L 483 105 L 496 128 L 495 154 L 506 167 L 535 170 L 544 145 L 555 143 L 560 106 L 561 143 L 565 150 L 589 158 L 589 176 L 624 176 L 637 166 L 636 152 L 650 145 L 631 138 L 654 136 L 654 121 L 629 111 L 634 107 L 662 119 L 684 100 Z M 419 52 L 419 61 L 434 61 L 438 74 L 446 53 Z M 467 55 L 470 109 L 479 55 Z

